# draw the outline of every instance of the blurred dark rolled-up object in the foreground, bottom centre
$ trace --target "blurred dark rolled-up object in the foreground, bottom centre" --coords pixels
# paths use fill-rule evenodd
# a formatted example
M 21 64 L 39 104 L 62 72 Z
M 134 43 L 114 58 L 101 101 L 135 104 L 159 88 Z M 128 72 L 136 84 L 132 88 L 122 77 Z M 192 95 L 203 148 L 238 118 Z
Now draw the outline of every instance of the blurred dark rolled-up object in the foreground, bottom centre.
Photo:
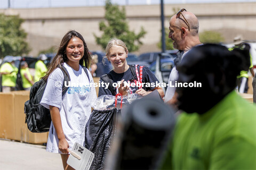
M 156 98 L 135 100 L 118 117 L 105 169 L 156 169 L 175 124 L 174 110 Z

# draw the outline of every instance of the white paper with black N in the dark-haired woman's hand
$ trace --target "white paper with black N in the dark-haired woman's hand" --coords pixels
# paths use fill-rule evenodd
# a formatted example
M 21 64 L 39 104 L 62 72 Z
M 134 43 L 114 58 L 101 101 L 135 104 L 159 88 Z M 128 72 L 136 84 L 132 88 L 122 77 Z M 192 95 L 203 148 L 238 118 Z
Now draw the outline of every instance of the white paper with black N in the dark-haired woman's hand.
M 86 149 L 82 145 L 79 145 L 77 142 L 75 143 L 72 149 L 81 159 L 77 159 L 73 155 L 69 155 L 67 164 L 73 167 L 76 170 L 89 170 L 92 165 L 92 160 L 94 158 L 93 152 Z

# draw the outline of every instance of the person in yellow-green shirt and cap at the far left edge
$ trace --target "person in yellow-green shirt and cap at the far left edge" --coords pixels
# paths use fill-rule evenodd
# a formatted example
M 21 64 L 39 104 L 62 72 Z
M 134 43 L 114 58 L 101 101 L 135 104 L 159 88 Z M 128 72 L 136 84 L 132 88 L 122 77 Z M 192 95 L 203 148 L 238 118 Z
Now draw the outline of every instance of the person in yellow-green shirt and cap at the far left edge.
M 14 65 L 14 58 L 9 57 L 0 68 L 0 74 L 2 75 L 2 91 L 10 92 L 14 91 L 16 87 L 18 68 Z

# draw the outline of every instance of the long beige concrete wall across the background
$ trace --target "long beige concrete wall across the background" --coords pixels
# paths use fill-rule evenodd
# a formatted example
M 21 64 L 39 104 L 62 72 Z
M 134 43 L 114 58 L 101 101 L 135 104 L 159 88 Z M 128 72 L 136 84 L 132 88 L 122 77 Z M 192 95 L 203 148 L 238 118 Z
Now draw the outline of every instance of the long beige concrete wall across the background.
M 256 2 L 255 3 L 219 3 L 219 4 L 165 4 L 165 27 L 174 14 L 173 8 L 186 8 L 199 20 L 199 32 L 213 30 L 222 33 L 226 42 L 233 41 L 237 35 L 244 39 L 256 40 Z M 143 45 L 137 54 L 157 48 L 161 37 L 160 5 L 125 6 L 129 27 L 136 33 L 143 27 L 147 34 L 142 38 Z M 65 33 L 74 29 L 85 38 L 90 50 L 101 50 L 95 43 L 93 34 L 99 36 L 99 22 L 104 19 L 105 7 L 68 7 L 68 8 L 30 8 L 6 9 L 0 13 L 19 14 L 25 19 L 23 29 L 28 32 L 28 42 L 33 48 L 30 55 L 51 46 L 58 48 Z

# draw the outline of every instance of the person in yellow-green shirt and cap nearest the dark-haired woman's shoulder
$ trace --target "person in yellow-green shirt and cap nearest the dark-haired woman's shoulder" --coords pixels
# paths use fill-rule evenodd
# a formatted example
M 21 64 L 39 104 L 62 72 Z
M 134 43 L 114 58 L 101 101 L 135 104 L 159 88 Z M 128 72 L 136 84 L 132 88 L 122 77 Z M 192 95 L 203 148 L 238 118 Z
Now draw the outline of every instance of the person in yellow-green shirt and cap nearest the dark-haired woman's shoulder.
M 35 82 L 39 81 L 40 78 L 44 77 L 47 72 L 47 67 L 43 62 L 46 59 L 47 56 L 45 54 L 41 54 L 35 64 Z

